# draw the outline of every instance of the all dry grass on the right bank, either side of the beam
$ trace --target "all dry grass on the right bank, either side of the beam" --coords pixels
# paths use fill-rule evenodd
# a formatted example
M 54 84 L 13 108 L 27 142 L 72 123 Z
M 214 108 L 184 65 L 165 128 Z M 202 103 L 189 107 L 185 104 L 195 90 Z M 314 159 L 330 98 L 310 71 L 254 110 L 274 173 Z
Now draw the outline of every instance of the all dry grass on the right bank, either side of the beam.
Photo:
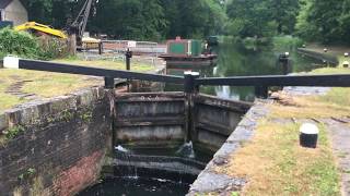
M 313 73 L 350 71 L 319 69 Z M 331 88 L 324 96 L 288 97 L 288 100 L 287 106 L 269 105 L 270 112 L 258 122 L 254 138 L 217 171 L 247 179 L 241 195 L 340 195 L 340 171 L 326 126 L 317 124 L 318 146 L 307 149 L 299 145 L 301 124 L 293 120 L 349 117 L 350 89 Z

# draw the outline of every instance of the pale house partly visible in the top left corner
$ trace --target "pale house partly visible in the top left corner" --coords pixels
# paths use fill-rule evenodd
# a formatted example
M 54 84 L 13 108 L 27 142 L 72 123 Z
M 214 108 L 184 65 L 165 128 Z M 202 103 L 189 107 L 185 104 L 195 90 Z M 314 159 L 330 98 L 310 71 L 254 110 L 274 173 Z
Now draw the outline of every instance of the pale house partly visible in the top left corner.
M 0 22 L 10 21 L 13 25 L 28 22 L 28 12 L 20 0 L 0 0 Z

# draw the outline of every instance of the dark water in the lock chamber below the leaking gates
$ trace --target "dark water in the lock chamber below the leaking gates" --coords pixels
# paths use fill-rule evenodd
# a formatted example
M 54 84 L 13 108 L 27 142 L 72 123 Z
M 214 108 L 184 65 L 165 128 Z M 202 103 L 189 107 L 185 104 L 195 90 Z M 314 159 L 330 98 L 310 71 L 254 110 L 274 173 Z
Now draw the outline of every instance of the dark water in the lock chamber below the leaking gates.
M 159 157 L 160 159 L 167 158 L 170 160 L 178 157 L 184 158 L 182 160 L 184 163 L 190 159 L 202 164 L 200 170 L 205 169 L 214 154 L 214 151 L 208 149 L 203 150 L 199 147 L 194 147 L 191 143 L 167 147 L 159 145 L 125 145 L 125 147 L 117 146 L 115 149 L 116 155 L 126 152 L 126 157 L 128 157 L 128 154 L 140 156 L 140 161 L 143 161 L 144 156 Z M 152 161 L 148 164 L 151 164 L 151 162 Z M 186 172 L 179 173 L 168 171 L 164 168 L 142 169 L 132 166 L 117 167 L 114 169 L 114 172 L 108 175 L 109 176 L 104 177 L 97 184 L 79 193 L 78 196 L 184 196 L 188 193 L 190 184 L 197 179 L 197 175 Z

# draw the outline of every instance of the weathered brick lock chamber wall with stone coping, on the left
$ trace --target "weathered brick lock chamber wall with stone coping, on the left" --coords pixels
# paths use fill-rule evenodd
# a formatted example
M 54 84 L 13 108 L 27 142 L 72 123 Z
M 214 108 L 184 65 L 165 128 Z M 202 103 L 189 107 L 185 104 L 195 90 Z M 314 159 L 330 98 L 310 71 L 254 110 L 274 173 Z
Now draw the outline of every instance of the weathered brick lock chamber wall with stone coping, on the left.
M 110 142 L 107 91 L 92 88 L 0 114 L 0 195 L 72 195 L 94 183 Z

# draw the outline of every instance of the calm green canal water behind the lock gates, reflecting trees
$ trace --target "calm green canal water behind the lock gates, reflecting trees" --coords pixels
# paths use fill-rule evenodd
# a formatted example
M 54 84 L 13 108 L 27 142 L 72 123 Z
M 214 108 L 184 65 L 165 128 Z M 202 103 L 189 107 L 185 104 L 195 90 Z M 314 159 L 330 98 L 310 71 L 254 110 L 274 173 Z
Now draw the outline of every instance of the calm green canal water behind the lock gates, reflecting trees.
M 296 51 L 298 45 L 273 44 L 260 47 L 245 46 L 244 44 L 222 44 L 213 47 L 218 54 L 218 63 L 214 68 L 187 70 L 199 71 L 202 77 L 223 76 L 250 76 L 250 75 L 280 75 L 283 74 L 282 65 L 278 59 L 281 53 L 289 52 L 292 63 L 292 72 L 308 72 L 316 68 L 325 66 L 325 63 L 303 57 Z M 182 75 L 185 70 L 167 70 L 168 74 Z M 179 86 L 168 85 L 167 90 L 182 90 Z M 220 98 L 254 101 L 254 87 L 229 86 L 201 86 L 200 91 L 214 95 Z

